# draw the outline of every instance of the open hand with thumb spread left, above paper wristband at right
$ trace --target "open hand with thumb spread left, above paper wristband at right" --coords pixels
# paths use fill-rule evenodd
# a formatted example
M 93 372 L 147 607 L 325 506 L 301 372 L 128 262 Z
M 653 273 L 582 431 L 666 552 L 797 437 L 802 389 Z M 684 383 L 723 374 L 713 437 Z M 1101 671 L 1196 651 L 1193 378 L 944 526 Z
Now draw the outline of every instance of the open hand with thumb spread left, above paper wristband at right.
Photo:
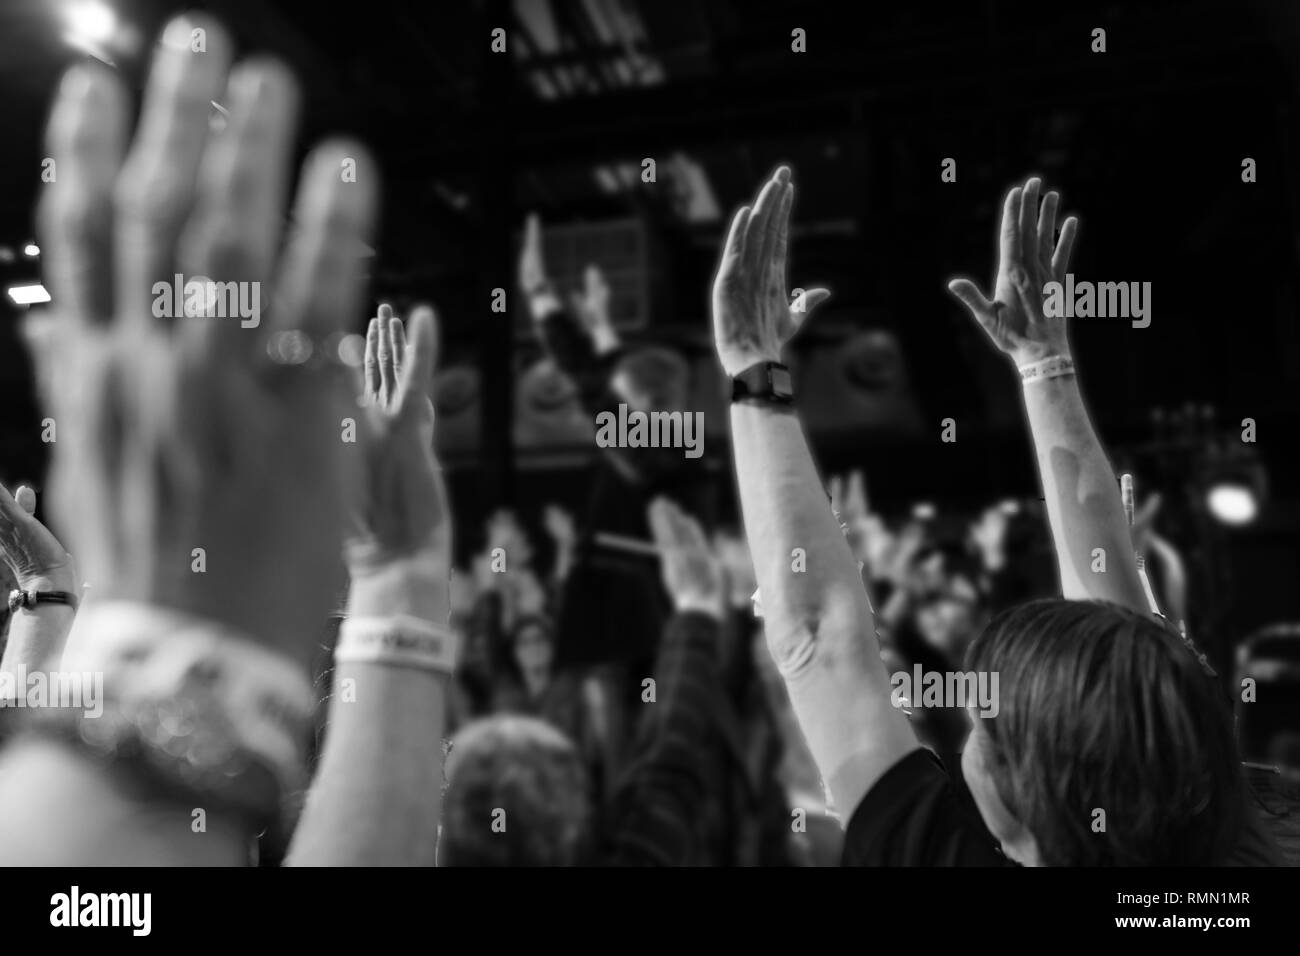
M 980 324 L 988 337 L 1017 365 L 1045 358 L 1069 356 L 1070 342 L 1063 316 L 1048 316 L 1043 308 L 1043 286 L 1063 282 L 1079 220 L 1066 219 L 1057 239 L 1056 220 L 1061 196 L 1049 191 L 1039 209 L 1043 181 L 1031 177 L 1023 187 L 1006 194 L 1002 226 L 998 232 L 997 276 L 989 300 L 968 278 L 948 284 Z

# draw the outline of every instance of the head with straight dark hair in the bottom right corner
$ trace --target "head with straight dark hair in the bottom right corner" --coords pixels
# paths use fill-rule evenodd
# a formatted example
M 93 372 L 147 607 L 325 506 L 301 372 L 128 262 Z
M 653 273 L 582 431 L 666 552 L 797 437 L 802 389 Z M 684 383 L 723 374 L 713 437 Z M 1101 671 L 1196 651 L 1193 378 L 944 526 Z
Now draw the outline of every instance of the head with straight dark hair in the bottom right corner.
M 1031 865 L 1212 865 L 1243 790 L 1226 702 L 1180 637 L 1108 604 L 1014 607 L 971 644 L 998 675 L 962 773 L 1004 852 Z

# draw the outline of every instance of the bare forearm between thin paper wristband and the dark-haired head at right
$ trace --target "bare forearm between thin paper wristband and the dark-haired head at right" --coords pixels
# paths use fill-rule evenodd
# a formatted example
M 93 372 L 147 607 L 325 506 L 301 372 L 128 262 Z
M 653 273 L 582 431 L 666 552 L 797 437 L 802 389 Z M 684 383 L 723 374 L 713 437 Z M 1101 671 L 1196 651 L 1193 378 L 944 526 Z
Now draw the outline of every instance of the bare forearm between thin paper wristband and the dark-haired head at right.
M 1066 375 L 1034 381 L 1023 392 L 1062 596 L 1145 613 L 1119 485 L 1078 380 Z

